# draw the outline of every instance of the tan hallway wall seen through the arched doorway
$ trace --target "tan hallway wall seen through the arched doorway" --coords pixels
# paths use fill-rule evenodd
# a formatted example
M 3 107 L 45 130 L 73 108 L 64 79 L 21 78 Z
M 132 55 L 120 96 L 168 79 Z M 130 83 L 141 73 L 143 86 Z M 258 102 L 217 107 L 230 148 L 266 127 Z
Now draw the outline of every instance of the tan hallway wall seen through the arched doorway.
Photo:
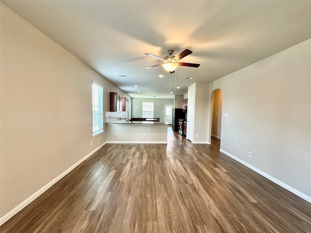
M 212 136 L 221 138 L 223 94 L 217 89 L 212 94 Z

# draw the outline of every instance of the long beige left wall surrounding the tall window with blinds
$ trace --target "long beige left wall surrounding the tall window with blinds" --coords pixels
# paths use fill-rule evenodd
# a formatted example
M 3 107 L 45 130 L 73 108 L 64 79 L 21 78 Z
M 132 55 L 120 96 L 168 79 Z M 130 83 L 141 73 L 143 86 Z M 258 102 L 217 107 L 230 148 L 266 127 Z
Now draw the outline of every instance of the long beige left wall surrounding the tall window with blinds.
M 129 97 L 2 3 L 0 8 L 3 216 L 106 141 L 105 132 L 92 137 L 92 81 L 104 86 L 106 110 L 110 91 Z

